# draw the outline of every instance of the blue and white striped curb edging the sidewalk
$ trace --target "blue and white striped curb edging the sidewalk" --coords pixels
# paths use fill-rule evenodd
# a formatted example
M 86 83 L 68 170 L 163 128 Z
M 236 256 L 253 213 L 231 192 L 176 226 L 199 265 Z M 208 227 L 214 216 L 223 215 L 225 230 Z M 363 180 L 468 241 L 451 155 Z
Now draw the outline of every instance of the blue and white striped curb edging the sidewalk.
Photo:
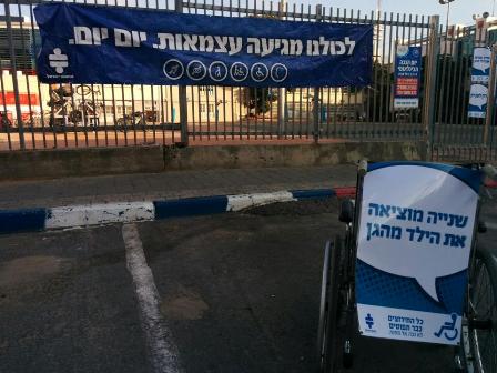
M 0 233 L 207 215 L 242 211 L 276 202 L 322 200 L 335 195 L 336 192 L 332 189 L 313 189 L 256 194 L 197 196 L 152 202 L 118 202 L 49 209 L 0 210 Z

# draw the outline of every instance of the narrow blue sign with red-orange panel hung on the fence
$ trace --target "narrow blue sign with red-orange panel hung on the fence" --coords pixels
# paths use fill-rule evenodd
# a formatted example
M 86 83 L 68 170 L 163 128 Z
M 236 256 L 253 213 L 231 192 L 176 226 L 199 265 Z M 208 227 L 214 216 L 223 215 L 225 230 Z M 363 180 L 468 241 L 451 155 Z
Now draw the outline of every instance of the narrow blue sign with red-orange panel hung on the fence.
M 419 107 L 419 78 L 422 73 L 422 48 L 397 46 L 395 53 L 395 109 Z

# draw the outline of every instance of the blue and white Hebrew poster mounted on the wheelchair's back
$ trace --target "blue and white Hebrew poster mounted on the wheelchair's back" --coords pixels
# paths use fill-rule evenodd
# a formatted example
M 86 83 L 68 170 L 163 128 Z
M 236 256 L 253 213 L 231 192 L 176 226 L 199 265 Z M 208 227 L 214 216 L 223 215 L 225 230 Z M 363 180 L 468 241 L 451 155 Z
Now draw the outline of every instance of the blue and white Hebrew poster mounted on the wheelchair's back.
M 363 335 L 460 342 L 479 178 L 435 163 L 369 165 L 356 263 Z

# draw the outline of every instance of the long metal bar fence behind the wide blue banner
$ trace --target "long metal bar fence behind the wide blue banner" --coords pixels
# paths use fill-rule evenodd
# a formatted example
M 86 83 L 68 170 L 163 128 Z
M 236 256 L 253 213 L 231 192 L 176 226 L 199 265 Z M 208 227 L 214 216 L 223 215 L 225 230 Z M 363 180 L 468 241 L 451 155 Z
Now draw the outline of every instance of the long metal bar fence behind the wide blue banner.
M 9 2 L 9 1 L 8 1 Z M 0 19 L 0 149 L 114 147 L 240 141 L 399 141 L 429 143 L 434 159 L 491 158 L 494 123 L 468 120 L 470 53 L 458 46 L 469 28 L 453 31 L 438 17 L 287 4 L 273 1 L 99 0 L 225 17 L 371 23 L 373 83 L 366 88 L 159 87 L 42 84 L 37 1 L 10 0 Z M 95 1 L 85 1 L 95 3 Z M 0 6 L 0 11 L 2 7 Z M 423 50 L 419 109 L 394 110 L 398 44 Z M 487 125 L 487 127 L 485 127 Z M 485 137 L 485 139 L 484 139 Z M 484 140 L 486 142 L 484 142 Z M 478 150 L 476 152 L 475 150 Z

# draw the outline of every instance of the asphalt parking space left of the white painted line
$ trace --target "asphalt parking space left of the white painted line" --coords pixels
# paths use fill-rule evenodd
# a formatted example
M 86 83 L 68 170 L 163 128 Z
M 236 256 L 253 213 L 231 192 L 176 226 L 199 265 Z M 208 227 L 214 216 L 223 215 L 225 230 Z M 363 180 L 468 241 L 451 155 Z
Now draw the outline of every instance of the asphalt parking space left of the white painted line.
M 150 372 L 119 226 L 0 242 L 0 372 Z

